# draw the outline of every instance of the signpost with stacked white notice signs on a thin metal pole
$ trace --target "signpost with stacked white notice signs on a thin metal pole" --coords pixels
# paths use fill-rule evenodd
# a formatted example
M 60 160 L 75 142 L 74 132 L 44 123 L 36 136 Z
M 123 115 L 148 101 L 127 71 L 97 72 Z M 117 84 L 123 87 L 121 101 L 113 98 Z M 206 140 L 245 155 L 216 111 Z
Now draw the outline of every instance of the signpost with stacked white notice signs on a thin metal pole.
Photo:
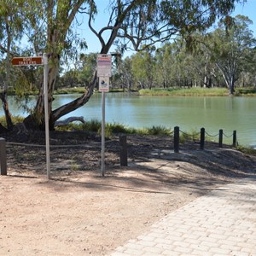
M 97 77 L 99 78 L 99 91 L 102 92 L 102 177 L 105 175 L 105 92 L 109 91 L 111 68 L 111 55 L 97 56 Z

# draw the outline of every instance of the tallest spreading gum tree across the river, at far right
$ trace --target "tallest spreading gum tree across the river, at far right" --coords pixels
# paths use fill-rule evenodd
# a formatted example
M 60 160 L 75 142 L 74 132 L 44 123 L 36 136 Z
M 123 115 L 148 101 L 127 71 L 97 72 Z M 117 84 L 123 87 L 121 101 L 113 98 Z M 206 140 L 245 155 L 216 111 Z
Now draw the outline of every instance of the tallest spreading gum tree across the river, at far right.
M 218 28 L 205 40 L 212 61 L 222 73 L 231 95 L 241 72 L 246 71 L 253 61 L 252 49 L 256 41 L 248 27 L 250 24 L 252 20 L 245 16 L 229 17 L 221 20 Z

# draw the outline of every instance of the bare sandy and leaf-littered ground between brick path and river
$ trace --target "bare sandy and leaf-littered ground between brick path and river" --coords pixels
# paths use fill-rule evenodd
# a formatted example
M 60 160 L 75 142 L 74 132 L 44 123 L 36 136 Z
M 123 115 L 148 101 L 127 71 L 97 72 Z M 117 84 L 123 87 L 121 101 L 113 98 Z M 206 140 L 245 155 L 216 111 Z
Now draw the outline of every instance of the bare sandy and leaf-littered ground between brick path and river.
M 119 166 L 119 137 L 107 139 L 102 177 L 100 137 L 55 131 L 48 180 L 44 133 L 5 138 L 0 255 L 108 255 L 167 213 L 255 173 L 255 158 L 230 147 L 189 142 L 174 154 L 171 137 L 128 136 L 128 166 Z

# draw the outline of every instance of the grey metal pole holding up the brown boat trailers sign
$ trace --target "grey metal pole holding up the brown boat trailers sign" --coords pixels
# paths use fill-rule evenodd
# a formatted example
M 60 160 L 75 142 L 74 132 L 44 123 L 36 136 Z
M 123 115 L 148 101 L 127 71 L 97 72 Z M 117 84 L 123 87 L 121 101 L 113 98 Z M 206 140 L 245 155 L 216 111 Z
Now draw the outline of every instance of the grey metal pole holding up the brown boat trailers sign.
M 50 179 L 49 168 L 49 109 L 48 109 L 48 56 L 44 53 L 44 121 L 45 121 L 45 148 L 46 148 L 46 170 L 47 178 Z

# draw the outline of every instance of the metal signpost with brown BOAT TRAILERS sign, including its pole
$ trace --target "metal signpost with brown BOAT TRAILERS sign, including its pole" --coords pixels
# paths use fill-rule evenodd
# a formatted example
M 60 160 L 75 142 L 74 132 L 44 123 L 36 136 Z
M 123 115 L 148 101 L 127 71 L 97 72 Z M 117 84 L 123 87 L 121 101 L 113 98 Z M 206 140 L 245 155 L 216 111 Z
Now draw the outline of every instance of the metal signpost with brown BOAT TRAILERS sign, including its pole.
M 48 109 L 48 56 L 36 56 L 36 57 L 15 57 L 12 59 L 14 66 L 29 66 L 29 65 L 44 65 L 44 120 L 45 120 L 45 148 L 46 148 L 46 169 L 47 178 L 50 178 L 49 168 L 49 109 Z

